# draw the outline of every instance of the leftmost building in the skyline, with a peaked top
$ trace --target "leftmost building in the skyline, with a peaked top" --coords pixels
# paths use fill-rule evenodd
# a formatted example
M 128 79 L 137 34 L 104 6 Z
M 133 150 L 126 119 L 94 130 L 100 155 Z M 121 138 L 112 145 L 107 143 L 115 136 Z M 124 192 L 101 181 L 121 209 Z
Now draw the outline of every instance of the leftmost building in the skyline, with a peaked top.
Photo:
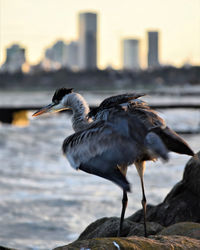
M 25 61 L 25 48 L 20 47 L 18 44 L 13 44 L 6 49 L 6 60 L 1 67 L 1 71 L 9 73 L 20 72 Z

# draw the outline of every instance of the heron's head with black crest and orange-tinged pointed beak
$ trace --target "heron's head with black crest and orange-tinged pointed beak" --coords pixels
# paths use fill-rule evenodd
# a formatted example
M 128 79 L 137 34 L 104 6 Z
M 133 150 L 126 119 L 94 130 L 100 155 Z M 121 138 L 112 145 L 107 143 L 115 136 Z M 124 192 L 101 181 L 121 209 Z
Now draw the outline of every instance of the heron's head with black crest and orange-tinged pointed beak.
M 32 116 L 38 116 L 44 113 L 54 113 L 70 109 L 70 107 L 67 105 L 67 99 L 72 92 L 73 89 L 66 89 L 66 88 L 57 89 L 53 95 L 52 103 L 37 110 Z

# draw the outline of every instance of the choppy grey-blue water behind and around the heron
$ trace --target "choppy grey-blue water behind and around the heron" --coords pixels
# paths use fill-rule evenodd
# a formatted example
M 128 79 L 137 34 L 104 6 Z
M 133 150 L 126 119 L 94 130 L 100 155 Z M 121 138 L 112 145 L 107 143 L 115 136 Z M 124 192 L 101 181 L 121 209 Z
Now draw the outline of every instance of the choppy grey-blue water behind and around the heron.
M 41 104 L 48 104 L 51 95 L 35 94 Z M 14 100 L 14 94 L 7 96 L 8 103 L 9 98 Z M 94 95 L 87 94 L 86 98 L 91 103 L 100 101 Z M 20 94 L 21 102 L 27 100 L 27 94 Z M 165 111 L 161 115 L 172 127 L 181 129 L 196 128 L 199 122 L 197 111 Z M 52 249 L 75 240 L 97 218 L 119 216 L 121 190 L 102 178 L 73 170 L 62 156 L 62 141 L 71 133 L 70 116 L 66 114 L 30 118 L 30 125 L 23 128 L 0 125 L 0 245 Z M 184 138 L 195 151 L 199 149 L 200 135 Z M 167 164 L 147 164 L 148 203 L 163 200 L 182 178 L 188 159 L 172 153 Z M 132 193 L 127 216 L 141 208 L 141 188 L 134 167 L 129 168 L 128 179 Z

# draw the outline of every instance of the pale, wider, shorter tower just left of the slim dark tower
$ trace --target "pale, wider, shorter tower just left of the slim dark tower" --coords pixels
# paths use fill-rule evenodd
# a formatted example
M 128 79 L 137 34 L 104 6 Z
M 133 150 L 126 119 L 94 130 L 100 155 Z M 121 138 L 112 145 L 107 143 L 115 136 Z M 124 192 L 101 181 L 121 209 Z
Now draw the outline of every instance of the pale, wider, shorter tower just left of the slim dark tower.
M 139 63 L 139 40 L 123 40 L 123 68 L 128 70 L 137 70 Z

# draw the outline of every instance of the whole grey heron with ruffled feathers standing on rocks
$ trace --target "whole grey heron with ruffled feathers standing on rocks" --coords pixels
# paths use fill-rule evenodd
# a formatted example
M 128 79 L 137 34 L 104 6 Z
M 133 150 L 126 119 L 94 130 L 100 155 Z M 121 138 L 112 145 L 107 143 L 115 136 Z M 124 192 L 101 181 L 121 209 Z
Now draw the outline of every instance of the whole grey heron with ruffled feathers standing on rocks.
M 147 237 L 144 171 L 146 161 L 161 158 L 168 161 L 169 152 L 193 156 L 187 142 L 169 128 L 164 119 L 140 99 L 145 94 L 126 93 L 106 98 L 90 110 L 82 95 L 73 89 L 60 88 L 51 104 L 33 116 L 72 110 L 74 133 L 62 146 L 63 154 L 76 170 L 97 175 L 117 184 L 123 190 L 118 236 L 122 236 L 130 184 L 128 166 L 136 166 L 142 189 L 144 236 Z

